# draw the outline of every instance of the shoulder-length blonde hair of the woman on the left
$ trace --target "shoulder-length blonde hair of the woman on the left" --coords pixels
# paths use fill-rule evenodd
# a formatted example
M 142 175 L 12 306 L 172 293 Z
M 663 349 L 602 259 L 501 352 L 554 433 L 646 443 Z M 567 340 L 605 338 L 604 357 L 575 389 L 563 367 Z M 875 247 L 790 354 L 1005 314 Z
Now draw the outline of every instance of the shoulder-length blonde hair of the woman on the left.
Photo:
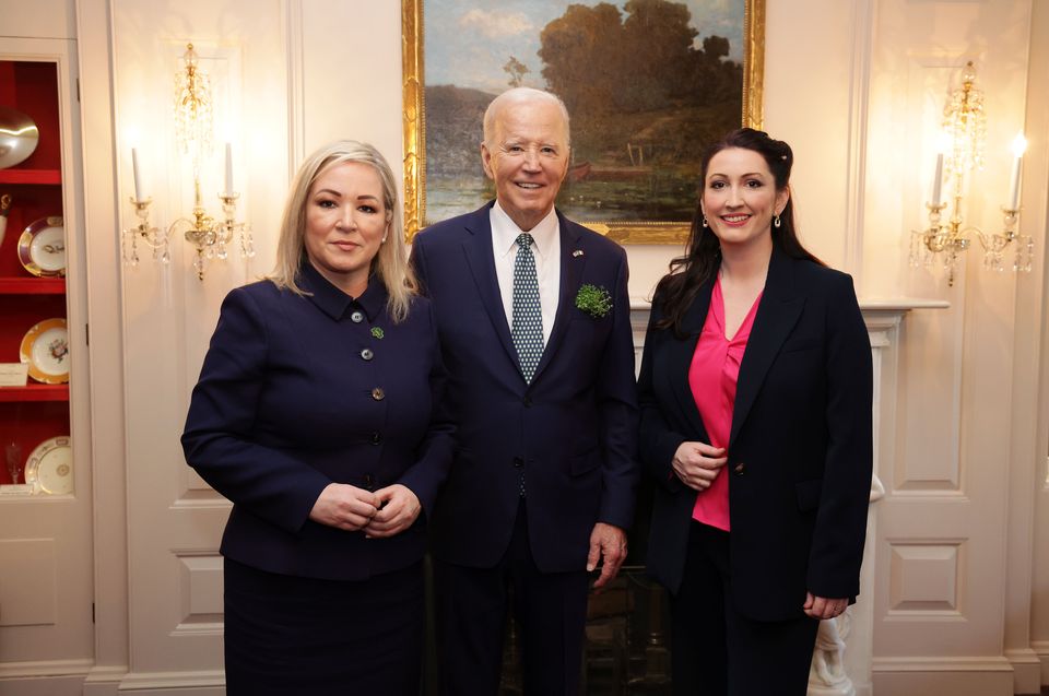
M 379 252 L 372 259 L 372 273 L 386 286 L 389 295 L 387 311 L 394 323 L 408 317 L 411 298 L 419 293 L 419 283 L 408 263 L 408 248 L 404 244 L 404 223 L 401 219 L 401 204 L 397 196 L 397 180 L 393 170 L 378 150 L 367 143 L 354 140 L 338 140 L 325 145 L 306 157 L 287 194 L 284 214 L 281 217 L 281 234 L 276 244 L 276 263 L 273 273 L 268 276 L 278 287 L 287 288 L 297 295 L 307 295 L 298 285 L 298 274 L 304 262 L 304 236 L 306 234 L 306 207 L 314 182 L 347 162 L 366 164 L 375 169 L 382 182 L 382 204 L 386 207 L 390 225 L 386 241 L 379 246 Z

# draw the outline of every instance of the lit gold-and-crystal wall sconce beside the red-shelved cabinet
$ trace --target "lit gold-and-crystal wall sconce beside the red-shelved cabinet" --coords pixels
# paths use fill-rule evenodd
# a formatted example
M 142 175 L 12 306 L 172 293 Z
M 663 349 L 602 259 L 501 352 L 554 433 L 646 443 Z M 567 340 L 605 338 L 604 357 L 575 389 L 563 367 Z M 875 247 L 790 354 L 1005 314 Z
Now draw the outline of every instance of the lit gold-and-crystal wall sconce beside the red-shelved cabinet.
M 193 45 L 188 44 L 182 55 L 182 70 L 175 73 L 175 140 L 179 150 L 188 154 L 192 161 L 192 219 L 179 217 L 165 231 L 150 223 L 150 204 L 153 199 L 146 198 L 142 192 L 138 153 L 132 149 L 134 198 L 131 199 L 131 204 L 134 205 L 139 224 L 123 231 L 123 258 L 132 267 L 138 266 L 137 245 L 142 241 L 153 251 L 154 260 L 168 263 L 172 258 L 168 241 L 177 232 L 193 245 L 196 250 L 193 269 L 197 271 L 197 278 L 203 281 L 205 261 L 212 258 L 225 260 L 228 256 L 226 245 L 233 240 L 234 236 L 239 238 L 243 258 L 255 256 L 255 241 L 251 237 L 251 226 L 236 220 L 237 199 L 240 194 L 233 190 L 233 148 L 229 143 L 226 143 L 225 153 L 225 190 L 219 194 L 219 200 L 222 201 L 222 220 L 215 220 L 209 215 L 201 202 L 200 160 L 202 155 L 211 153 L 214 114 L 211 83 L 208 74 L 199 68 L 198 60 Z

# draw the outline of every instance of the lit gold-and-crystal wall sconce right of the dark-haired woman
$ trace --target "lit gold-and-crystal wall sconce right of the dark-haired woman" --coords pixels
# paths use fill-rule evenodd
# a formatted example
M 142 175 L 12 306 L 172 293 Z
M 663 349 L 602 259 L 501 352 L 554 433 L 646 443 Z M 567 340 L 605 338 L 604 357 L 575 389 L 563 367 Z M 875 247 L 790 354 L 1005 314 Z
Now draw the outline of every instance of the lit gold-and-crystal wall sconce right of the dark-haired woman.
M 987 135 L 983 93 L 975 87 L 975 82 L 976 68 L 973 61 L 969 61 L 962 71 L 962 87 L 951 94 L 943 110 L 946 143 L 945 146 L 940 148 L 940 153 L 936 155 L 932 201 L 926 203 L 929 210 L 929 226 L 923 231 L 912 231 L 910 237 L 910 264 L 932 266 L 939 257 L 946 268 L 948 286 L 954 285 L 958 260 L 969 248 L 971 236 L 979 239 L 983 248 L 983 268 L 986 269 L 1004 271 L 1005 251 L 1011 246 L 1015 251 L 1012 262 L 1013 271 L 1030 272 L 1034 257 L 1034 241 L 1030 236 L 1019 235 L 1016 232 L 1016 219 L 1019 215 L 1019 173 L 1026 148 L 1022 133 L 1013 143 L 1013 174 L 1009 203 L 1002 205 L 1004 215 L 1002 231 L 986 234 L 975 225 L 963 226 L 965 222 L 962 219 L 962 202 L 965 197 L 965 175 L 967 172 L 983 168 L 983 141 Z M 951 189 L 947 202 L 942 202 L 941 197 L 944 173 Z M 954 207 L 947 221 L 942 222 L 950 199 L 953 199 Z M 1013 245 L 1014 241 L 1015 245 Z

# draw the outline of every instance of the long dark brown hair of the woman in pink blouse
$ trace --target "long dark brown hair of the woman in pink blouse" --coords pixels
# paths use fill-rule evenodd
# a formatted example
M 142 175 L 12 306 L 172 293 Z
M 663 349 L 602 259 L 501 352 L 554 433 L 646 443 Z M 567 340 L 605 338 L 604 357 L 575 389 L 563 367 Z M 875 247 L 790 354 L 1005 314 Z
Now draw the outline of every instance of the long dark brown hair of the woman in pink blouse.
M 704 153 L 699 172 L 700 199 L 703 198 L 703 190 L 706 188 L 707 168 L 710 166 L 710 160 L 722 150 L 732 148 L 753 150 L 762 155 L 776 181 L 777 191 L 786 189 L 790 184 L 790 168 L 794 164 L 794 153 L 790 145 L 781 140 L 773 140 L 765 131 L 740 128 L 715 142 Z M 780 225 L 771 228 L 773 245 L 789 257 L 808 259 L 824 266 L 823 261 L 810 253 L 798 240 L 792 198 L 787 199 L 787 205 L 779 214 L 779 220 Z M 670 262 L 670 272 L 659 281 L 659 285 L 656 287 L 656 294 L 660 295 L 659 310 L 663 315 L 656 323 L 656 328 L 673 328 L 674 333 L 679 338 L 683 338 L 681 320 L 685 311 L 692 306 L 692 302 L 699 292 L 699 286 L 715 276 L 720 264 L 721 243 L 709 227 L 704 227 L 703 208 L 697 202 L 685 255 Z

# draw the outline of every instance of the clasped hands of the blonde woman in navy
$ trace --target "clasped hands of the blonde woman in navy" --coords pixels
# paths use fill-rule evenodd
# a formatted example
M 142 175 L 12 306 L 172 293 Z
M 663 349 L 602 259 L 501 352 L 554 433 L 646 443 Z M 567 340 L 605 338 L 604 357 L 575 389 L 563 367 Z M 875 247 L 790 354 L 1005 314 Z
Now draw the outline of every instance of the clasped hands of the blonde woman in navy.
M 364 530 L 368 538 L 385 538 L 411 527 L 421 511 L 419 497 L 400 483 L 375 492 L 330 483 L 317 497 L 309 519 L 345 531 Z

